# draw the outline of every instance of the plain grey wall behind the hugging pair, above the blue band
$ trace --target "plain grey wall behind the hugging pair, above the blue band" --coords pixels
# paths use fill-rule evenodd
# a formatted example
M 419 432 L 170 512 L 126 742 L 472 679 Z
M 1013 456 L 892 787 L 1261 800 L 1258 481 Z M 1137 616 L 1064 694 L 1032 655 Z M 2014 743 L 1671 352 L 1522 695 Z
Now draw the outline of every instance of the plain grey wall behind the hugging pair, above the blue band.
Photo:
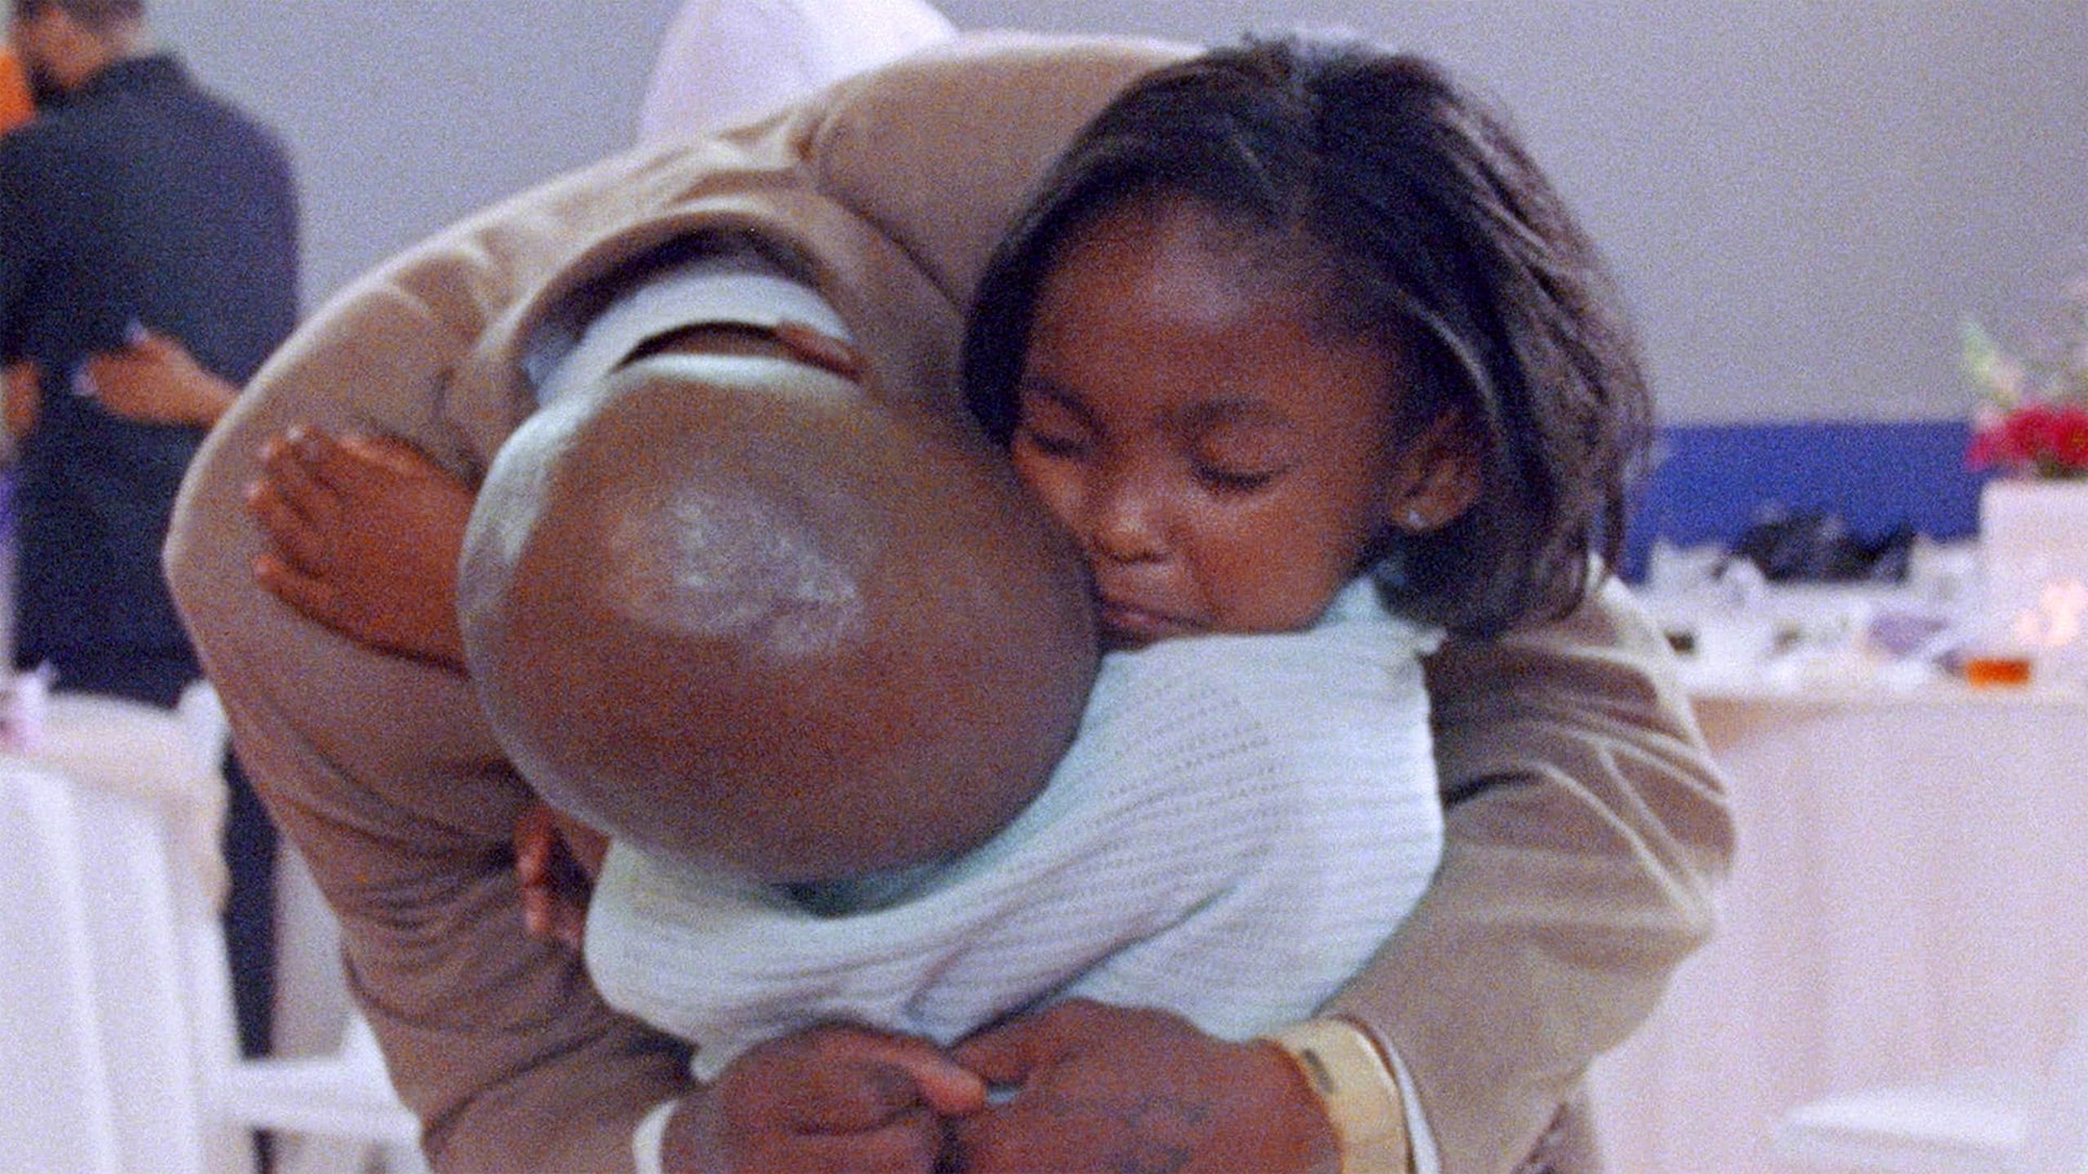
M 157 0 L 280 125 L 313 292 L 628 140 L 677 0 Z M 2084 0 L 944 0 L 965 27 L 1338 25 L 1497 94 L 1677 420 L 1950 418 L 1963 315 L 2088 269 Z

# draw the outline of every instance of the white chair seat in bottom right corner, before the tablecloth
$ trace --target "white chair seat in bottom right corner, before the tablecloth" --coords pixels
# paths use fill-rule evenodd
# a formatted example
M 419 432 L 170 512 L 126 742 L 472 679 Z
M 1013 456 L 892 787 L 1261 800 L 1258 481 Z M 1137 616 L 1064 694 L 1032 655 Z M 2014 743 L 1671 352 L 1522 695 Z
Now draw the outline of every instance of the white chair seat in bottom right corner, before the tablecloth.
M 1904 1174 L 2088 1174 L 2088 1015 L 2044 1072 L 1965 1072 L 1862 1088 L 1785 1113 L 1794 1161 Z

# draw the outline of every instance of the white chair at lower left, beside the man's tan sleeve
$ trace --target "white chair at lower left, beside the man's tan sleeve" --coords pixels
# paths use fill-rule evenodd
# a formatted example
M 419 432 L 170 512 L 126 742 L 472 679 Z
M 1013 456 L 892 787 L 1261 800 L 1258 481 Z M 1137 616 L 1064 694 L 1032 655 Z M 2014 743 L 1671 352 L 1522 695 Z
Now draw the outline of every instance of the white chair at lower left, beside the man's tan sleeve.
M 223 746 L 209 696 L 61 698 L 44 758 L 0 758 L 0 1170 L 251 1174 L 253 1130 L 284 1172 L 426 1170 L 359 1022 L 330 1057 L 238 1057 Z

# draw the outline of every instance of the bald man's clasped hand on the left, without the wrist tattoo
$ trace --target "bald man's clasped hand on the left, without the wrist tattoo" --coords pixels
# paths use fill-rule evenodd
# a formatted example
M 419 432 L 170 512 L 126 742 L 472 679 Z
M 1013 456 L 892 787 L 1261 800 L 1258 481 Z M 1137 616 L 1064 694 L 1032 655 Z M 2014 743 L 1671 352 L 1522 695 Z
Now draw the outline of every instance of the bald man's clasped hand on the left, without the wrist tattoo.
M 986 1084 L 925 1040 L 821 1026 L 764 1042 L 674 1109 L 668 1174 L 827 1170 L 933 1174 L 946 1120 L 977 1113 Z

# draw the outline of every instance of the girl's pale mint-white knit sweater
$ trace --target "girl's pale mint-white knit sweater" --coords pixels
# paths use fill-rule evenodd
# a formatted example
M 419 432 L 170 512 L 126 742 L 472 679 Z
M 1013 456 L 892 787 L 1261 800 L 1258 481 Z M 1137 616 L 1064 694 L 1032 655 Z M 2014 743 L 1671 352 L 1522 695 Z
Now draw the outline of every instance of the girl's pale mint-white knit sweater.
M 1441 859 L 1434 641 L 1355 583 L 1303 633 L 1109 654 L 1050 785 L 979 850 L 818 915 L 614 846 L 589 969 L 704 1078 L 825 1019 L 950 1042 L 1067 996 L 1228 1038 L 1309 1017 Z

